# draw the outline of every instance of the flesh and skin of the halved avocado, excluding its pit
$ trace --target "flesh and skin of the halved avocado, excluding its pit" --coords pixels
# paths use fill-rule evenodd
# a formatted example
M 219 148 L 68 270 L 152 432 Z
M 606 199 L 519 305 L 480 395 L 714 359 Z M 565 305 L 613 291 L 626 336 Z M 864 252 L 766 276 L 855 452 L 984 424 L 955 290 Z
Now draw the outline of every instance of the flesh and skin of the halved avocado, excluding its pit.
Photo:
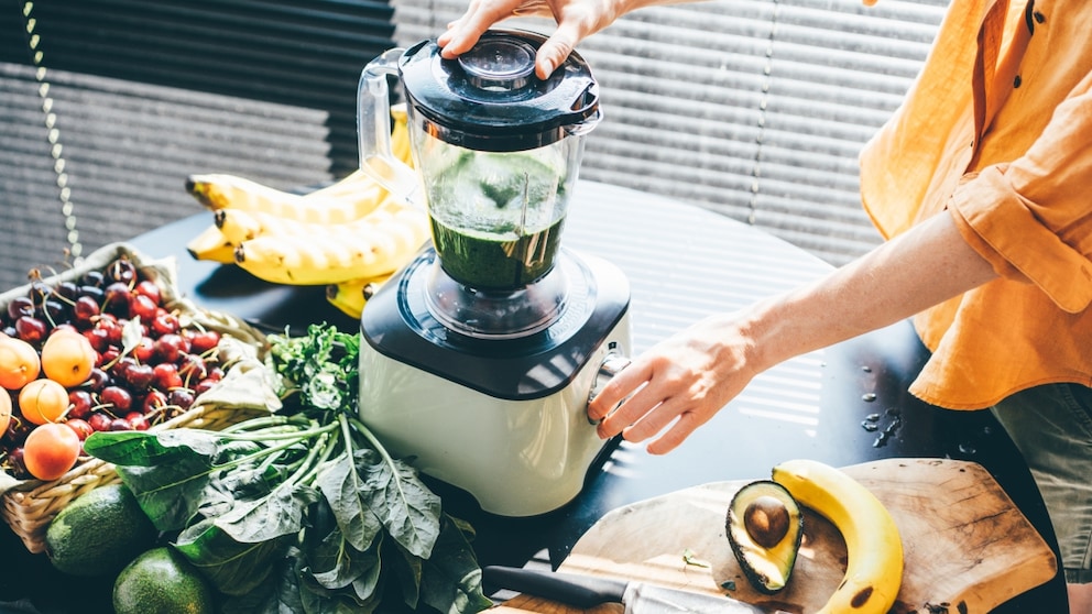
M 744 524 L 747 506 L 761 496 L 776 497 L 789 514 L 785 537 L 771 548 L 755 542 Z M 729 504 L 724 533 L 735 560 L 756 591 L 773 595 L 788 584 L 804 539 L 804 514 L 785 486 L 772 480 L 756 480 L 741 487 Z

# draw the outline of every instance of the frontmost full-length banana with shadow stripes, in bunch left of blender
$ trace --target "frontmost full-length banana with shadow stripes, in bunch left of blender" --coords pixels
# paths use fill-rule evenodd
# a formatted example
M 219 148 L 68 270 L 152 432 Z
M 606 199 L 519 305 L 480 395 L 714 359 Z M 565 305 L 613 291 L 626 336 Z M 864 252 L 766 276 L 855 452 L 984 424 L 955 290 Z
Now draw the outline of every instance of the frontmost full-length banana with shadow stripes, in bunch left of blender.
M 353 222 L 316 224 L 308 232 L 243 241 L 236 248 L 236 263 L 275 284 L 339 284 L 401 268 L 426 239 L 425 212 L 387 199 Z

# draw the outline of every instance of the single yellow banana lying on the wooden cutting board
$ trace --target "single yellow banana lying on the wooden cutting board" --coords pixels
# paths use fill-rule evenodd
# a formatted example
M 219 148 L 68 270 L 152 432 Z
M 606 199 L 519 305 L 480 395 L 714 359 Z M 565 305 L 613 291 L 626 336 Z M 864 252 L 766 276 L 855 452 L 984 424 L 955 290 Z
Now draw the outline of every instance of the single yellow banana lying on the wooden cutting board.
M 880 500 L 841 470 L 813 460 L 783 462 L 773 480 L 845 540 L 845 578 L 818 614 L 886 614 L 903 582 L 903 541 Z

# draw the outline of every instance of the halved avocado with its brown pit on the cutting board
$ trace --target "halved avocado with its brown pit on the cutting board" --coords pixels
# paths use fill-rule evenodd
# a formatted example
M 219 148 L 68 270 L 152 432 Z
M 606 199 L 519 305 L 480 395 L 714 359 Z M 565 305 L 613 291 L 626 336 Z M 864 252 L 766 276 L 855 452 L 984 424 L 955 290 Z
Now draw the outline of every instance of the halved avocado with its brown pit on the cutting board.
M 728 507 L 728 541 L 755 590 L 772 595 L 788 583 L 804 538 L 804 514 L 771 480 L 744 485 Z

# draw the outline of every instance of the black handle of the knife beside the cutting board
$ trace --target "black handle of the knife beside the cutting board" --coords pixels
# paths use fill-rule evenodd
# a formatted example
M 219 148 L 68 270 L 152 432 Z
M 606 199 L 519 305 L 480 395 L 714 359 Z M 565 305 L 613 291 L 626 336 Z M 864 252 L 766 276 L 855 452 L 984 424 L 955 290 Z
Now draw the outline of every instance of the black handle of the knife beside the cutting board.
M 538 571 L 517 567 L 485 566 L 482 579 L 500 588 L 546 597 L 582 610 L 601 603 L 622 603 L 624 580 Z

